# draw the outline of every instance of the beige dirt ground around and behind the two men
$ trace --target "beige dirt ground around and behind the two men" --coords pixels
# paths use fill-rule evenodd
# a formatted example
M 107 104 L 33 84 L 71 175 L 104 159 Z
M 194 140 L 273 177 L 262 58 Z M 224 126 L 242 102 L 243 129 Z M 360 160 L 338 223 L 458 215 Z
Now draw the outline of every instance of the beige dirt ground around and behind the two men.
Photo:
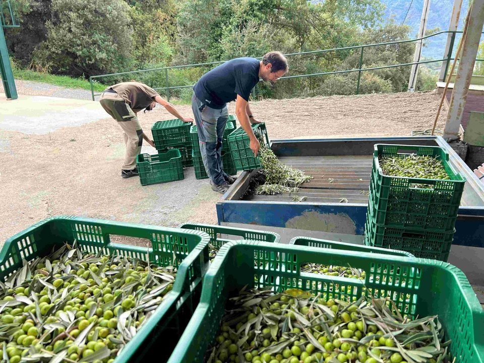
M 439 101 L 433 92 L 397 93 L 264 100 L 251 108 L 271 139 L 408 136 L 432 128 Z M 192 115 L 188 105 L 177 109 Z M 139 116 L 148 133 L 155 121 L 173 118 L 159 105 Z M 442 115 L 438 128 L 443 125 Z M 109 117 L 41 135 L 0 128 L 1 243 L 62 214 L 164 226 L 217 223 L 220 195 L 208 179 L 195 179 L 193 168 L 184 180 L 142 187 L 138 178 L 120 177 L 123 155 L 122 131 Z

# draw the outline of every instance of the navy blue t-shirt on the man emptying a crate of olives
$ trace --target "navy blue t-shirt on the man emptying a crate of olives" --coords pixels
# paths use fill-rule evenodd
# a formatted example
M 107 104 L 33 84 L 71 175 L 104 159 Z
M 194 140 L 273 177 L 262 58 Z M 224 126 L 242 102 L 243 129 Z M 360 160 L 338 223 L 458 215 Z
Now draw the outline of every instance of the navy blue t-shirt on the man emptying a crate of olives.
M 193 87 L 197 98 L 211 108 L 221 109 L 237 95 L 249 101 L 259 82 L 259 61 L 256 58 L 235 58 L 205 73 Z

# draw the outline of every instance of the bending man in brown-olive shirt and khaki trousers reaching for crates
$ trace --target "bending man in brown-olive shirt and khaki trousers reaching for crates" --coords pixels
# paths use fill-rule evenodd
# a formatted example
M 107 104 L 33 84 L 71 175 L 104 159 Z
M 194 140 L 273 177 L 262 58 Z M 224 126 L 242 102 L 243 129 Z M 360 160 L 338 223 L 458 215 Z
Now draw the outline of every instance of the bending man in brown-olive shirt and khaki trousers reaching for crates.
M 128 178 L 139 175 L 136 157 L 141 151 L 143 139 L 155 146 L 141 129 L 137 113 L 142 109 L 150 111 L 159 103 L 183 122 L 192 122 L 193 118 L 181 116 L 176 108 L 160 97 L 153 88 L 139 82 L 123 82 L 108 87 L 101 93 L 99 101 L 102 108 L 114 118 L 125 132 L 125 161 L 121 167 L 121 176 Z

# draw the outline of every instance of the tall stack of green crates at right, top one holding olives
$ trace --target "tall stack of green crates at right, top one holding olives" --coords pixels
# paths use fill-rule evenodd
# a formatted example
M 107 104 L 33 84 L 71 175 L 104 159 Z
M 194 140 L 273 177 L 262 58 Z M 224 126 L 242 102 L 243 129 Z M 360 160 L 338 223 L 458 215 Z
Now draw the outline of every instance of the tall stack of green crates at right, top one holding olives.
M 450 179 L 390 176 L 379 157 L 435 157 Z M 375 145 L 365 225 L 368 246 L 392 248 L 416 257 L 447 261 L 465 178 L 455 172 L 447 152 L 435 146 Z

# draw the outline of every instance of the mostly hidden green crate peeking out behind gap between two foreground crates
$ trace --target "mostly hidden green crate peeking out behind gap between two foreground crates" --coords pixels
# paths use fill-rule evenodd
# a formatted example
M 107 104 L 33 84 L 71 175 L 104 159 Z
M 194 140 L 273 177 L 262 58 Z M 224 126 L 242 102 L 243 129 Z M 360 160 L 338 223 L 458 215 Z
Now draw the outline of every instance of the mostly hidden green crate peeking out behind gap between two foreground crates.
M 233 238 L 222 238 L 222 234 L 231 237 L 242 237 L 237 239 L 250 239 L 271 243 L 279 243 L 281 240 L 281 236 L 276 232 L 261 231 L 257 229 L 226 227 L 202 223 L 180 224 L 178 228 L 194 229 L 207 233 L 210 236 L 210 244 L 217 248 L 234 240 Z

